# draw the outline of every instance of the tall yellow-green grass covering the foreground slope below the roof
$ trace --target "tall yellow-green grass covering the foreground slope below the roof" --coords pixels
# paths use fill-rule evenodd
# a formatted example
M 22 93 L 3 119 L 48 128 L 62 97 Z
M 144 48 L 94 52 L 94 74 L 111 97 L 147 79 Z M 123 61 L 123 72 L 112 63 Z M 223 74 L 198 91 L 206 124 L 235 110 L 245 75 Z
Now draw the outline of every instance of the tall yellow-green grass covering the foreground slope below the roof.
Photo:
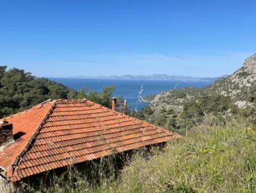
M 71 170 L 53 178 L 46 192 L 255 192 L 256 130 L 246 119 L 206 122 L 150 156 L 134 154 L 118 177 L 102 175 L 93 185 Z M 106 166 L 109 167 L 109 166 Z M 39 192 L 41 192 L 39 190 Z M 5 191 L 7 192 L 7 191 Z

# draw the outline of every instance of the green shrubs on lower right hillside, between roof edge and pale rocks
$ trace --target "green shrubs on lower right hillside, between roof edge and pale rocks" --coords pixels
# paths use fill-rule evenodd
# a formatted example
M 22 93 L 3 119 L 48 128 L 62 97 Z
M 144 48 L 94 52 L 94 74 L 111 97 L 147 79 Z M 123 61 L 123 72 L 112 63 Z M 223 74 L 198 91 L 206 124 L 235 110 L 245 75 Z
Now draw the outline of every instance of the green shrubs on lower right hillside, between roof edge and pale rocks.
M 181 111 L 172 108 L 161 108 L 160 111 L 153 111 L 150 106 L 147 106 L 137 113 L 133 112 L 131 115 L 184 135 L 187 129 L 201 124 L 205 116 L 212 116 L 211 124 L 225 124 L 232 116 L 236 116 L 238 111 L 229 96 L 203 95 L 198 96 L 195 100 L 189 100 L 184 104 Z

